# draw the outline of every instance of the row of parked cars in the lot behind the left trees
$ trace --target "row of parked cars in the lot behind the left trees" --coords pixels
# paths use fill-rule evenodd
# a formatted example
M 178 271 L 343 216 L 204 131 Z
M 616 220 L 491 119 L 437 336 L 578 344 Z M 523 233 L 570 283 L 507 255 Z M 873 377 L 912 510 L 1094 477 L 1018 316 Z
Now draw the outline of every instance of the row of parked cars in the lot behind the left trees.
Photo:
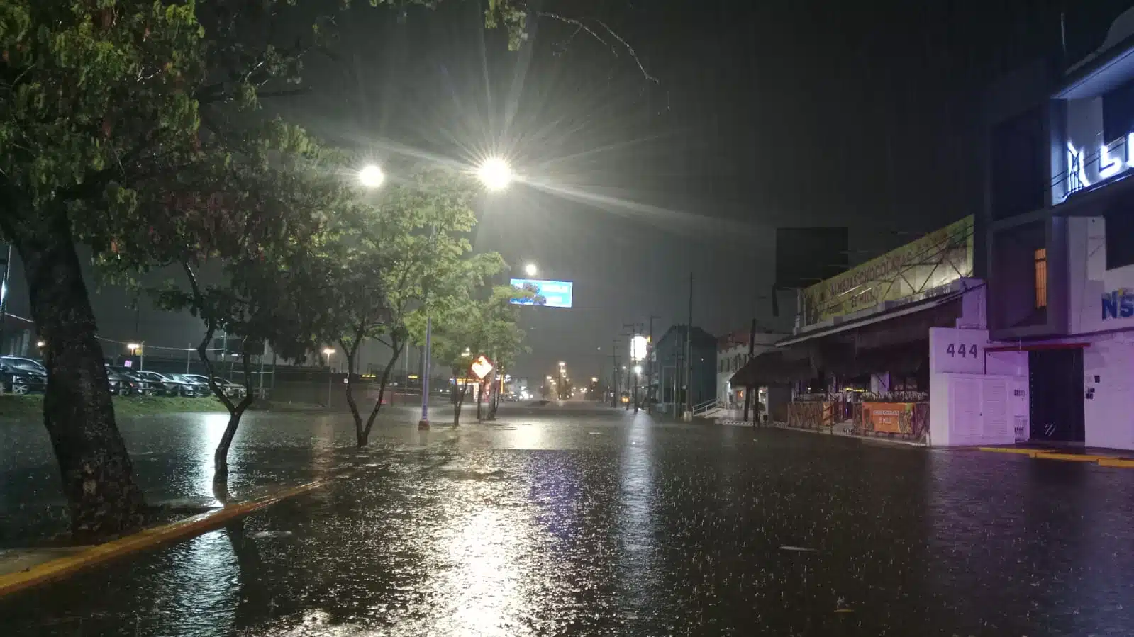
M 107 365 L 110 393 L 115 396 L 211 396 L 209 377 L 201 374 L 161 374 L 142 372 L 121 365 Z M 248 389 L 239 383 L 214 377 L 217 387 L 229 398 L 243 398 Z M 0 357 L 0 384 L 5 393 L 35 393 L 48 387 L 48 371 L 34 358 Z

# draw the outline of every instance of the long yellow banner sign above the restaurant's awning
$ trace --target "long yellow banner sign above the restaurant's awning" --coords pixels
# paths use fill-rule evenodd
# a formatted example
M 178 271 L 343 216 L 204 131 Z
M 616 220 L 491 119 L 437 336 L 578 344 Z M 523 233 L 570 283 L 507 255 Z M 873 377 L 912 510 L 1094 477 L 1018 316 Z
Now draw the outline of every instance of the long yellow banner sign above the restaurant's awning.
M 973 216 L 968 215 L 805 289 L 803 324 L 908 298 L 972 275 Z

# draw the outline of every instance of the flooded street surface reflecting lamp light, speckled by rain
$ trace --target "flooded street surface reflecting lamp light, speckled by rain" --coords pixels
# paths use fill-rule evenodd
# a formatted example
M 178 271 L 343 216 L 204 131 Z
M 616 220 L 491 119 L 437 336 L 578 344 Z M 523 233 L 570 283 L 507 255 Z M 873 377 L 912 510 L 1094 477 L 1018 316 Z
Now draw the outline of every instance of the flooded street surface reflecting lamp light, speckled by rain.
M 206 496 L 208 453 L 189 451 L 211 445 L 200 418 L 124 427 L 132 450 L 180 468 L 170 498 Z M 234 491 L 354 476 L 0 600 L 0 632 L 1134 630 L 1134 472 L 612 410 L 510 408 L 502 421 L 424 434 L 390 423 L 364 452 L 341 418 L 252 421 Z M 39 475 L 34 447 L 7 477 Z M 150 470 L 138 462 L 153 493 Z

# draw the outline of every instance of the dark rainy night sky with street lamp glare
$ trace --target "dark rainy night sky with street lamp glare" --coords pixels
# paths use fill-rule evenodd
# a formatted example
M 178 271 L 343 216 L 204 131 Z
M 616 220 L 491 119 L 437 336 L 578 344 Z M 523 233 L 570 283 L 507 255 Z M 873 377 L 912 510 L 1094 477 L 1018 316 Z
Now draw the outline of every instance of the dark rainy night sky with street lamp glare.
M 982 205 L 980 95 L 998 75 L 1060 56 L 1061 2 L 544 0 L 584 20 L 539 20 L 508 52 L 475 1 L 405 19 L 365 2 L 340 19 L 312 92 L 269 105 L 361 155 L 507 156 L 525 177 L 485 197 L 477 249 L 575 281 L 574 309 L 530 308 L 533 353 L 579 377 L 609 373 L 623 324 L 660 315 L 713 334 L 776 326 L 778 226 L 846 224 L 863 261 Z M 1127 1 L 1067 2 L 1067 58 L 1086 54 Z M 646 77 L 649 76 L 649 77 Z M 26 316 L 22 273 L 10 311 Z M 192 318 L 96 294 L 100 333 L 186 347 Z M 785 314 L 793 301 L 784 298 Z M 787 329 L 787 316 L 778 321 Z M 596 350 L 601 347 L 602 350 Z M 626 346 L 619 355 L 625 357 Z M 414 364 L 414 366 L 416 363 Z

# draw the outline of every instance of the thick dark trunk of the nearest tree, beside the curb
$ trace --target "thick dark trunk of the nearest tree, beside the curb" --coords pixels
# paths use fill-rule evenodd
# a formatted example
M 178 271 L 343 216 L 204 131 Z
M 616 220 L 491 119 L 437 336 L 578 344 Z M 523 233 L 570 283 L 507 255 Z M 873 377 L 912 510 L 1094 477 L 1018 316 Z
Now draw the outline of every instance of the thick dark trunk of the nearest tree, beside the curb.
M 144 501 L 115 424 L 94 312 L 68 220 L 14 241 L 24 262 L 32 316 L 46 342 L 43 424 L 51 438 L 76 537 L 99 538 L 142 525 Z

